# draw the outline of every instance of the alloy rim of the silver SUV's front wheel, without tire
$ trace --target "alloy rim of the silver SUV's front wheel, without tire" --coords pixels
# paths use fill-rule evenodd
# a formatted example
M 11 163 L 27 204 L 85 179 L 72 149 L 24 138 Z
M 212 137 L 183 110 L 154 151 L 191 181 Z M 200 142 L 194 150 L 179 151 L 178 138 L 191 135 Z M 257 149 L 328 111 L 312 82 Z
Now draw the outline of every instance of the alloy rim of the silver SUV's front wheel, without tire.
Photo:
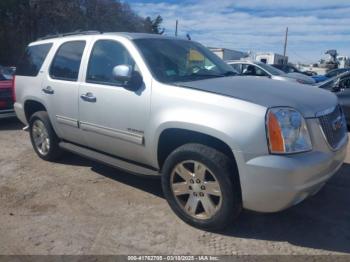
M 204 164 L 189 160 L 175 166 L 171 189 L 180 207 L 197 219 L 210 219 L 221 207 L 222 194 L 213 172 Z

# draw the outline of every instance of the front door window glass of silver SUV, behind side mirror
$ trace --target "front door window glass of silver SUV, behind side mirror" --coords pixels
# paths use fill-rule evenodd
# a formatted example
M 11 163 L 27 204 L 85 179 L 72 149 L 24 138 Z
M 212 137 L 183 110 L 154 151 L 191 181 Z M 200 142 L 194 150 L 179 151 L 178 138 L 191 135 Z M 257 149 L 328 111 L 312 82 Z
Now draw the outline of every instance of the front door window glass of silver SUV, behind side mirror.
M 117 65 L 130 65 L 135 69 L 135 62 L 123 45 L 111 40 L 97 41 L 91 52 L 86 81 L 122 84 L 113 78 L 113 68 Z

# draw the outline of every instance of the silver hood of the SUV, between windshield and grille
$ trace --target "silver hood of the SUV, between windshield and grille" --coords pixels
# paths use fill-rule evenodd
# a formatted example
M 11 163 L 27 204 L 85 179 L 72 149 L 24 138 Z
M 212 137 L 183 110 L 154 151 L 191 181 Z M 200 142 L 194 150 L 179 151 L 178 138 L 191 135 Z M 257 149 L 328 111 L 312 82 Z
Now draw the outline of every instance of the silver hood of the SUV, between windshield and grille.
M 179 82 L 177 85 L 234 97 L 266 108 L 292 107 L 306 118 L 315 117 L 317 112 L 334 107 L 338 103 L 337 97 L 329 91 L 262 77 L 221 77 Z

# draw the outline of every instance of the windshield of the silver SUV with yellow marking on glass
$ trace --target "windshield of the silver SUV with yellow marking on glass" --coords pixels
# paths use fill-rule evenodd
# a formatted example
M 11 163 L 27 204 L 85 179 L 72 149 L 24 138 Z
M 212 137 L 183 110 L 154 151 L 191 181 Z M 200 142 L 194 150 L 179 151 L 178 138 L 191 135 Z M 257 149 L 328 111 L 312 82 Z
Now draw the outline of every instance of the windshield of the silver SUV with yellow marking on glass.
M 136 39 L 157 80 L 165 83 L 236 75 L 237 72 L 199 43 L 174 39 Z

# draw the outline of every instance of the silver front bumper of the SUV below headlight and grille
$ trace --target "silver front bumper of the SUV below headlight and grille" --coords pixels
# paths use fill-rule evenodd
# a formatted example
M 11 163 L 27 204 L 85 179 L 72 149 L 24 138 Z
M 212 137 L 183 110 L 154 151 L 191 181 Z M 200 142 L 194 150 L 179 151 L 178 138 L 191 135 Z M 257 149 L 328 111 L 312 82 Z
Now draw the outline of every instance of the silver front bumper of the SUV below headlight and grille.
M 347 143 L 337 151 L 250 159 L 240 176 L 243 207 L 276 212 L 316 194 L 343 164 L 346 147 Z

